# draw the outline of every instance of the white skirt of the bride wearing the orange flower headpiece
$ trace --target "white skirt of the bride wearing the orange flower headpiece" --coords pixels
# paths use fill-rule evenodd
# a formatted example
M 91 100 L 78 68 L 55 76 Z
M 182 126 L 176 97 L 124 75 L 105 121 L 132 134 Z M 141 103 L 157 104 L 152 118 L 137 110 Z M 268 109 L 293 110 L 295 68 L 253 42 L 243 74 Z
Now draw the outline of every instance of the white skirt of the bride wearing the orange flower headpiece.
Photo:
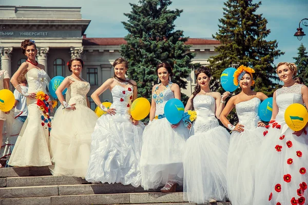
M 227 161 L 227 190 L 233 205 L 252 205 L 256 162 L 264 127 L 233 131 Z M 266 203 L 262 204 L 265 205 Z

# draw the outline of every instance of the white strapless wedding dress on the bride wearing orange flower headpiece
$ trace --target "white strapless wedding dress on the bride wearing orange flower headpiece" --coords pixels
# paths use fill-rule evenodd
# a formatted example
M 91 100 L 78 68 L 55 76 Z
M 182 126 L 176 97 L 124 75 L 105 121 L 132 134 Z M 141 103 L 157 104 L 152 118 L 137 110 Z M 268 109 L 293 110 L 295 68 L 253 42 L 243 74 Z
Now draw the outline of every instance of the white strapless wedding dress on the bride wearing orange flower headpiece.
M 258 127 L 260 103 L 261 100 L 255 97 L 235 106 L 244 131 L 232 132 L 228 152 L 227 190 L 233 205 L 253 204 L 256 161 L 266 130 Z

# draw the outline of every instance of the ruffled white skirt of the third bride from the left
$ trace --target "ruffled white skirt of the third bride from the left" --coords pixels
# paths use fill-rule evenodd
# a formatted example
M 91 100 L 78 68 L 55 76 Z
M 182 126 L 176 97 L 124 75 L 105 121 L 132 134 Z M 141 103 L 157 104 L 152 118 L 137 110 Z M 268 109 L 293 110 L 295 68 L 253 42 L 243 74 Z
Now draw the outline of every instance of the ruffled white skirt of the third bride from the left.
M 143 128 L 141 121 L 135 126 L 124 115 L 100 117 L 92 133 L 86 180 L 140 186 Z

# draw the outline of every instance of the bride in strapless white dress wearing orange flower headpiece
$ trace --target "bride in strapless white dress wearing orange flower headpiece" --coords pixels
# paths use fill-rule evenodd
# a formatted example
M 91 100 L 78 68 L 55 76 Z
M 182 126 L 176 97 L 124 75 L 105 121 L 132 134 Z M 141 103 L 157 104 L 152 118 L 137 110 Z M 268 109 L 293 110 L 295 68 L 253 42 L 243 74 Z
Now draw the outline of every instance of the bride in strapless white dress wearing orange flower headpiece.
M 235 85 L 240 85 L 241 93 L 230 98 L 220 115 L 224 126 L 232 130 L 227 160 L 227 191 L 233 205 L 253 204 L 256 161 L 266 130 L 258 112 L 261 101 L 267 96 L 251 89 L 255 83 L 252 73 L 255 73 L 253 69 L 243 65 L 237 69 Z M 226 118 L 234 107 L 239 119 L 236 126 Z

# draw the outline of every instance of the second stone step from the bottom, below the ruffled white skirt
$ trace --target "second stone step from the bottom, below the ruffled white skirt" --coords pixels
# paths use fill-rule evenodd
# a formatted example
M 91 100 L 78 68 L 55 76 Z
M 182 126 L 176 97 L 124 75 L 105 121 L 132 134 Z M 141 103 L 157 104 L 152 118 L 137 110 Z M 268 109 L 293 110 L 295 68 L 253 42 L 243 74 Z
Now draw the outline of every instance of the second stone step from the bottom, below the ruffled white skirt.
M 9 178 L 7 178 L 9 179 Z M 178 187 L 177 191 L 183 191 Z M 0 197 L 38 197 L 56 195 L 86 195 L 86 194 L 114 194 L 114 193 L 142 193 L 160 192 L 156 190 L 144 190 L 142 187 L 133 187 L 122 184 L 80 184 L 80 185 L 49 185 L 49 186 L 28 186 L 28 187 L 5 187 L 0 188 Z

